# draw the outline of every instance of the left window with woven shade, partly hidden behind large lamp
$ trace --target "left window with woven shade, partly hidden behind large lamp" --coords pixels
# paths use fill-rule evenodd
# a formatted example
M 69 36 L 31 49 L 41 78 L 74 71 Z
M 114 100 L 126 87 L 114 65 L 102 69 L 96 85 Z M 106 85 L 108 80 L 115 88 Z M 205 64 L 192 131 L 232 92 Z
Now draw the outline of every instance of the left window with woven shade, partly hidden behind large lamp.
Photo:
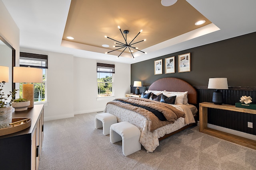
M 46 102 L 46 68 L 48 68 L 48 56 L 41 54 L 20 52 L 20 66 L 42 68 L 43 82 L 34 83 L 34 102 Z M 22 84 L 20 83 L 20 97 L 22 98 Z

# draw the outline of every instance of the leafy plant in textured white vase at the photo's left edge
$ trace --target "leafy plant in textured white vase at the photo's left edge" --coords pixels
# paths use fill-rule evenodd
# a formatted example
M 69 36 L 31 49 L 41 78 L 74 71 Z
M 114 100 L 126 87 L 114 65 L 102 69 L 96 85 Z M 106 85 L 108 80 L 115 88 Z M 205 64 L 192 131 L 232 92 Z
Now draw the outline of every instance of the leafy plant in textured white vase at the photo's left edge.
M 12 123 L 12 101 L 17 91 L 14 89 L 13 92 L 10 92 L 10 94 L 5 97 L 4 92 L 2 92 L 4 84 L 4 81 L 0 83 L 0 129 L 9 127 L 9 124 Z M 6 100 L 8 100 L 10 96 L 12 96 L 12 99 L 9 103 Z

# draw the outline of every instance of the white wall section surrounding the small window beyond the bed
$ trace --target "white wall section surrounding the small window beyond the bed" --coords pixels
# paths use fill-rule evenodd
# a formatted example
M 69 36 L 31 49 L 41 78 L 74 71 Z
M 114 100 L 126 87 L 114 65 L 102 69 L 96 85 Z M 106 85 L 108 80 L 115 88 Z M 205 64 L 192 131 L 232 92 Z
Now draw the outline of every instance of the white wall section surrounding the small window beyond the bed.
M 97 63 L 115 64 L 114 98 L 130 92 L 130 64 L 74 57 L 74 114 L 103 111 L 114 98 L 97 100 Z

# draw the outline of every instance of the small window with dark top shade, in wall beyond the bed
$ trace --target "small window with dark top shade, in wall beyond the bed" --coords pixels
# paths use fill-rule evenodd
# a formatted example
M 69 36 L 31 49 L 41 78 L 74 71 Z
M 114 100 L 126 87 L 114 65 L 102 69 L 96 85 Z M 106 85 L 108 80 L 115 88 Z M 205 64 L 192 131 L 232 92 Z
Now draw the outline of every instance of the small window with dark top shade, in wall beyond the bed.
M 114 96 L 114 73 L 114 64 L 97 63 L 98 98 Z

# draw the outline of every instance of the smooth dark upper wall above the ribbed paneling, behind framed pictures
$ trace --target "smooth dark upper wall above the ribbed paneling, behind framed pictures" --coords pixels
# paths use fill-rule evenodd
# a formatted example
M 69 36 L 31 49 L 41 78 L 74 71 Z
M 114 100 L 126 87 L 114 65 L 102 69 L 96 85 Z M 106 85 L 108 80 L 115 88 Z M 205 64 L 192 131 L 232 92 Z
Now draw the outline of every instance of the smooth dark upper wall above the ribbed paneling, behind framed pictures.
M 178 72 L 178 55 L 190 53 L 190 72 Z M 175 56 L 175 73 L 165 74 L 164 59 Z M 163 59 L 163 74 L 154 75 L 154 61 Z M 256 86 L 256 32 L 131 64 L 131 85 L 150 85 L 164 77 L 207 86 L 209 78 L 226 77 L 229 86 Z

